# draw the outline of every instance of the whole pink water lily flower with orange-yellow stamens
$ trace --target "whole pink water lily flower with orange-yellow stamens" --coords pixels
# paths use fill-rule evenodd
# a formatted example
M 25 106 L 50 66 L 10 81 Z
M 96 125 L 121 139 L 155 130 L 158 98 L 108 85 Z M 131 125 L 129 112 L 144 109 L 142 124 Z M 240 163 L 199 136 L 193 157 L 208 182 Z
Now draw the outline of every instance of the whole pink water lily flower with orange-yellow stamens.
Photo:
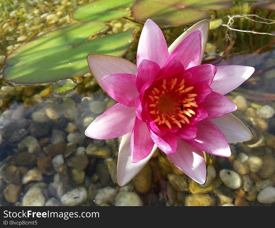
M 167 48 L 161 29 L 148 19 L 138 43 L 137 65 L 119 57 L 88 55 L 94 78 L 118 103 L 96 118 L 85 134 L 94 139 L 123 136 L 117 167 L 120 186 L 133 179 L 157 147 L 203 184 L 202 151 L 229 157 L 228 143 L 252 138 L 230 113 L 237 107 L 224 95 L 247 80 L 254 68 L 201 65 L 208 31 L 209 21 L 202 20 Z

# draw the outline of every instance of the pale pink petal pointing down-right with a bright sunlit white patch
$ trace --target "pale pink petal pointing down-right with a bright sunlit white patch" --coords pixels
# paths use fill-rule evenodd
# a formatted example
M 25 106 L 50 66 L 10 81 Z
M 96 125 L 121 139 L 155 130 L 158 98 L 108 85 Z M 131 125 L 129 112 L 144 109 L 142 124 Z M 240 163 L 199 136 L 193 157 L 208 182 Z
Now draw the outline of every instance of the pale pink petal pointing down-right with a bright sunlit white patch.
M 206 165 L 202 151 L 178 139 L 177 152 L 167 156 L 187 176 L 199 184 L 204 184 L 206 180 Z

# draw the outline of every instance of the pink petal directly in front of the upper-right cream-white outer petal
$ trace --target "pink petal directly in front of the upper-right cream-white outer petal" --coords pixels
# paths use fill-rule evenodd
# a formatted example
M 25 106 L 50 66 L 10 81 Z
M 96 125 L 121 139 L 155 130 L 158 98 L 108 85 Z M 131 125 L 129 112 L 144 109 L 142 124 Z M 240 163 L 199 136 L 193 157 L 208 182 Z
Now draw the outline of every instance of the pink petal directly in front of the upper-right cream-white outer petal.
M 201 42 L 201 31 L 196 30 L 192 32 L 175 48 L 165 65 L 169 61 L 176 59 L 183 64 L 184 69 L 197 66 L 202 51 Z

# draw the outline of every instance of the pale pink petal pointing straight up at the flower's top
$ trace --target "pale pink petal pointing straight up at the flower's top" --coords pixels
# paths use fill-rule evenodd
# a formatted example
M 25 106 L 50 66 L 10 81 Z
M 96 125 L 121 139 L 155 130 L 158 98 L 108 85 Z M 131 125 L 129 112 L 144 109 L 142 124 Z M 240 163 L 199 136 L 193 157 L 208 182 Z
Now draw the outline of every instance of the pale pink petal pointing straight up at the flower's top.
M 168 48 L 163 33 L 155 22 L 148 19 L 139 37 L 137 66 L 143 59 L 147 59 L 162 67 L 167 58 Z

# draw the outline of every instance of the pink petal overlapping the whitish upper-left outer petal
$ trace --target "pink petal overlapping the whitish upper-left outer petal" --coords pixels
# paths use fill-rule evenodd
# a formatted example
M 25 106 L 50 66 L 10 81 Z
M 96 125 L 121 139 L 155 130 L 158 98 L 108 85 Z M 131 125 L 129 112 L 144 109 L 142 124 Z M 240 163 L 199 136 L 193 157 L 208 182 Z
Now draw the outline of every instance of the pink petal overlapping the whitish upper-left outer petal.
M 133 74 L 111 74 L 102 78 L 102 84 L 108 95 L 128 107 L 135 106 L 139 95 L 135 82 L 136 75 Z

